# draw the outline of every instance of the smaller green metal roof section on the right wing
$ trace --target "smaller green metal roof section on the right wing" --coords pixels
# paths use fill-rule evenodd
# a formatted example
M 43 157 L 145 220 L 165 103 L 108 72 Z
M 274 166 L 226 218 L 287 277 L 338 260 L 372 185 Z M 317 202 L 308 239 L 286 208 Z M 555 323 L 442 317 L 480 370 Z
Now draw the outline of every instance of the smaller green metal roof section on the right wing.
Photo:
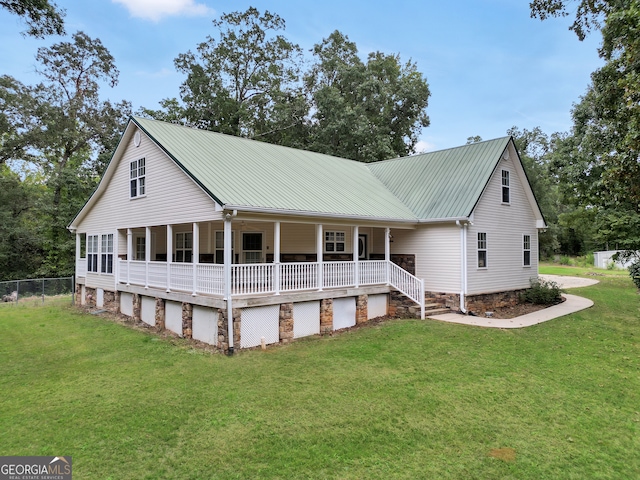
M 416 217 L 471 215 L 511 137 L 368 164 Z

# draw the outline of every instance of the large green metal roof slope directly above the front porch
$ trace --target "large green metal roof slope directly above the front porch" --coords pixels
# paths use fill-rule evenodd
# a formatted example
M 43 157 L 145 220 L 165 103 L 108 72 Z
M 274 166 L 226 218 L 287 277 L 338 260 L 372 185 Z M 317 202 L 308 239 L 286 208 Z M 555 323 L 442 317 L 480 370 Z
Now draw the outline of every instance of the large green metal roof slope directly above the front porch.
M 364 163 L 155 120 L 133 121 L 223 206 L 416 220 Z

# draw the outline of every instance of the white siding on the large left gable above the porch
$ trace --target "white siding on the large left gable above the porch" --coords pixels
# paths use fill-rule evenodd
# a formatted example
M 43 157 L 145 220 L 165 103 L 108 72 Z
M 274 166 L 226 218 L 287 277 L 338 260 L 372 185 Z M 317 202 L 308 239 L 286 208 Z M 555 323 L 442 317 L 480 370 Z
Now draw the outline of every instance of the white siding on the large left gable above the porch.
M 220 217 L 215 202 L 198 187 L 144 133 L 139 147 L 130 144 L 118 162 L 104 193 L 78 225 L 89 234 L 116 228 L 165 225 Z M 129 164 L 146 160 L 146 196 L 129 198 Z

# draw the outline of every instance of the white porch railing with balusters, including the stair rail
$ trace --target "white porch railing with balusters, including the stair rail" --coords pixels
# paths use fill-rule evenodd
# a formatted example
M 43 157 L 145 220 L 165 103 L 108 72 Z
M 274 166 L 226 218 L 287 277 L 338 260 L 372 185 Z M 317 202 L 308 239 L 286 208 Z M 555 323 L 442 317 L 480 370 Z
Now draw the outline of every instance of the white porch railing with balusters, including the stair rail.
M 80 262 L 77 262 L 76 268 L 79 264 Z M 195 286 L 193 268 L 192 263 L 171 263 L 170 284 L 167 285 L 165 262 L 119 260 L 118 281 L 205 295 L 224 295 L 223 265 L 196 264 Z M 277 276 L 276 268 L 279 269 Z M 424 308 L 424 282 L 396 264 L 386 260 L 358 262 L 357 282 L 355 272 L 355 262 L 324 262 L 322 288 L 389 284 Z M 280 280 L 279 285 L 276 285 L 276 278 Z M 261 295 L 315 289 L 318 289 L 317 263 L 247 263 L 231 266 L 232 295 Z

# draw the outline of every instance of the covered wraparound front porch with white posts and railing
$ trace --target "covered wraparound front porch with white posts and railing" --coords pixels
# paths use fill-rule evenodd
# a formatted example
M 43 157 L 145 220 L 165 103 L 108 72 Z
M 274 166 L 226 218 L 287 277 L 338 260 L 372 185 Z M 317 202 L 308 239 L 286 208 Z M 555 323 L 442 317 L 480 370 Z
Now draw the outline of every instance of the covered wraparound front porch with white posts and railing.
M 387 285 L 424 309 L 423 281 L 391 261 L 390 242 L 389 227 L 238 219 L 229 213 L 219 221 L 118 229 L 113 275 L 116 288 L 224 300 Z M 82 276 L 87 261 L 80 257 Z

